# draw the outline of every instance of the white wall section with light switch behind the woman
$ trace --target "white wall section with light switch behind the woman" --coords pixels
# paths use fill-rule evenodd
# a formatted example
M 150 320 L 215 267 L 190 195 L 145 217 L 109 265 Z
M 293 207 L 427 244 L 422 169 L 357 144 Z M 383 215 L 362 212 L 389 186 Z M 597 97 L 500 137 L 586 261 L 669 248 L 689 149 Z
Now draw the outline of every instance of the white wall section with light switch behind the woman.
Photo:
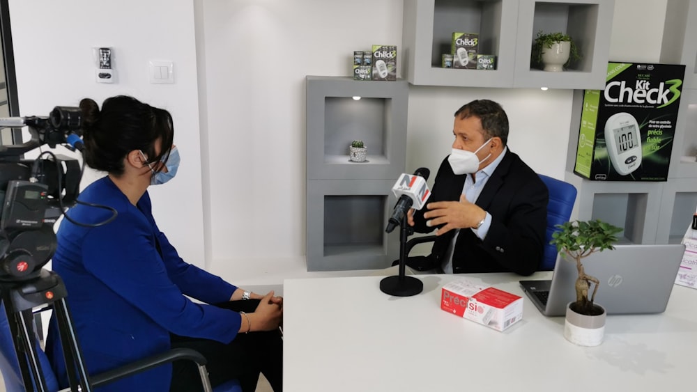
M 204 265 L 201 146 L 191 0 L 10 0 L 22 116 L 47 116 L 83 97 L 101 105 L 133 95 L 172 113 L 182 167 L 151 187 L 160 228 L 182 255 Z M 108 13 L 107 13 L 108 11 Z M 112 47 L 118 83 L 95 83 L 92 47 Z M 149 84 L 149 60 L 174 62 L 176 84 Z M 95 174 L 90 175 L 91 178 Z

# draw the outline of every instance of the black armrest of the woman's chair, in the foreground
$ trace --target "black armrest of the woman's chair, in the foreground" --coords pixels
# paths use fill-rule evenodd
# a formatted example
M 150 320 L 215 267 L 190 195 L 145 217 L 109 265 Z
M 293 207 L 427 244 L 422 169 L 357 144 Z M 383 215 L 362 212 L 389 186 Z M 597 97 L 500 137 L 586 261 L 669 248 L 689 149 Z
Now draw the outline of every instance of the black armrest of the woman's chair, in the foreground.
M 206 357 L 204 357 L 200 352 L 190 348 L 173 348 L 167 352 L 148 356 L 147 358 L 128 363 L 128 365 L 94 375 L 93 377 L 90 377 L 90 383 L 96 388 L 98 386 L 103 386 L 105 384 L 109 384 L 110 382 L 114 382 L 118 379 L 135 375 L 137 373 L 144 372 L 145 370 L 150 370 L 157 366 L 163 365 L 164 363 L 178 361 L 180 359 L 194 361 L 199 366 L 206 365 Z

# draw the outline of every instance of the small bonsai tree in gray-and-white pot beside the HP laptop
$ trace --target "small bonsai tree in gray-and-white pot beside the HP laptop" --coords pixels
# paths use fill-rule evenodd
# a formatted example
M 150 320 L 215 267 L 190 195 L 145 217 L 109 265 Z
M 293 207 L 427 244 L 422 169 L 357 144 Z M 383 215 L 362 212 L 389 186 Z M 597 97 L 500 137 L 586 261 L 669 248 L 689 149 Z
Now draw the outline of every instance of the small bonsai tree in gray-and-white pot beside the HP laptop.
M 565 256 L 565 260 L 575 261 L 579 272 L 576 278 L 576 301 L 569 303 L 564 325 L 564 336 L 572 343 L 595 346 L 602 343 L 605 331 L 605 309 L 595 304 L 595 294 L 599 281 L 585 273 L 581 260 L 595 252 L 615 249 L 618 241 L 615 236 L 622 228 L 599 219 L 591 221 L 571 221 L 556 225 L 560 229 L 552 234 L 551 244 Z M 592 294 L 591 285 L 595 285 Z

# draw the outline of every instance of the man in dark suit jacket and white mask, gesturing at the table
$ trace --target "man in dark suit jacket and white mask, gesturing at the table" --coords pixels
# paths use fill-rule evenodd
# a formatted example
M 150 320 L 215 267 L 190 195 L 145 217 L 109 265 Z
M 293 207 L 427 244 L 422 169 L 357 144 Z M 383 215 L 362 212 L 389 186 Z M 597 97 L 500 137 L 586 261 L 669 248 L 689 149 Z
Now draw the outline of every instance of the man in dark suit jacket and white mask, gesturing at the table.
M 508 150 L 505 111 L 490 100 L 470 102 L 455 113 L 453 134 L 429 203 L 408 214 L 418 233 L 436 228 L 433 267 L 532 274 L 542 260 L 549 194 Z

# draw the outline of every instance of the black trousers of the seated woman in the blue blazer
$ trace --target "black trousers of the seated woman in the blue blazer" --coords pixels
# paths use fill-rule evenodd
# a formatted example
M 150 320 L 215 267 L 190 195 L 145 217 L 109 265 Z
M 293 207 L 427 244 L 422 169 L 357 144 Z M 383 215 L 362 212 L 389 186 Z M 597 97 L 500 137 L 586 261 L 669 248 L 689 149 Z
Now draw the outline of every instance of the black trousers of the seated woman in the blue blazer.
M 252 313 L 259 299 L 216 304 L 236 312 Z M 242 322 L 247 322 L 243 316 Z M 244 392 L 254 392 L 259 373 L 263 373 L 274 392 L 283 391 L 283 340 L 278 330 L 238 334 L 230 343 L 171 335 L 171 347 L 192 348 L 206 357 L 212 386 L 238 379 Z M 192 361 L 174 361 L 171 392 L 203 391 L 201 377 Z

